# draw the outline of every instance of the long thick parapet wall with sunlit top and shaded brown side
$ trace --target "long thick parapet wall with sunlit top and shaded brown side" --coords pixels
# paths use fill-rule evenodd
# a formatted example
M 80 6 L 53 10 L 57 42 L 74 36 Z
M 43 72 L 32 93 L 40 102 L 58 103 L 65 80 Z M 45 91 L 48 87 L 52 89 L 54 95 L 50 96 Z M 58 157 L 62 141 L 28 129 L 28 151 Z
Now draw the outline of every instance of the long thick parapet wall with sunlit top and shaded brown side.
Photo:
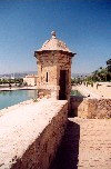
M 48 169 L 64 133 L 65 100 L 42 99 L 0 117 L 0 168 Z

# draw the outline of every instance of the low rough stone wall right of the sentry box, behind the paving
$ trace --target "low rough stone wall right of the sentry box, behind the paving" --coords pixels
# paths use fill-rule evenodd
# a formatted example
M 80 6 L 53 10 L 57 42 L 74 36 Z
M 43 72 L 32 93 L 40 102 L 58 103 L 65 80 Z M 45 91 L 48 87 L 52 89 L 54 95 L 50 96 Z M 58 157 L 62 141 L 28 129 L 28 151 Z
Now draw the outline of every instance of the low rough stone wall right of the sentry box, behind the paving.
M 111 99 L 71 98 L 71 113 L 81 118 L 111 118 Z

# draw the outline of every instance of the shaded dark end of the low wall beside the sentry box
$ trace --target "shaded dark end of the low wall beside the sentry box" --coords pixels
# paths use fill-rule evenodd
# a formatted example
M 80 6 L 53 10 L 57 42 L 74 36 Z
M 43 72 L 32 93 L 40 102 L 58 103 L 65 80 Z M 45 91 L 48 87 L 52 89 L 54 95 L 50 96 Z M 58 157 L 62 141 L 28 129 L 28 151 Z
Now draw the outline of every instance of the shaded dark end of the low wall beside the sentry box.
M 69 110 L 69 118 L 78 117 L 78 107 L 83 101 L 83 96 L 71 96 L 70 98 L 70 110 Z

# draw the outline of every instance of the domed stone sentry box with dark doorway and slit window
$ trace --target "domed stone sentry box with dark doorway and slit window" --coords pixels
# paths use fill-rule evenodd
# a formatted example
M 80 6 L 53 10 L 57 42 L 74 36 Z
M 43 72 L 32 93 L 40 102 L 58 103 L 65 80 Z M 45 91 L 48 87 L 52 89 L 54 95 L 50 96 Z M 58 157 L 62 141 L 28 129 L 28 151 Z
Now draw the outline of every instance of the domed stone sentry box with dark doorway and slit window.
M 57 39 L 56 32 L 42 48 L 34 51 L 38 64 L 38 89 L 51 90 L 51 97 L 69 100 L 71 92 L 72 53 L 64 42 Z

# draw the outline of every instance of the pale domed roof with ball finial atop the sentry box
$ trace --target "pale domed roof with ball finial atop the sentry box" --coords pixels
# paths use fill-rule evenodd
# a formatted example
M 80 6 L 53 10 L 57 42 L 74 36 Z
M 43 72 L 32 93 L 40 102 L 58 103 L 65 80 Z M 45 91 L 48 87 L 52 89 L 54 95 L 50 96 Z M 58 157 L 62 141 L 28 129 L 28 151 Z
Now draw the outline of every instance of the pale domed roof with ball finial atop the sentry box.
M 51 34 L 52 34 L 51 39 L 47 40 L 43 43 L 42 48 L 39 49 L 38 51 L 43 51 L 43 50 L 62 50 L 62 51 L 71 52 L 63 41 L 57 39 L 54 31 L 52 31 Z

